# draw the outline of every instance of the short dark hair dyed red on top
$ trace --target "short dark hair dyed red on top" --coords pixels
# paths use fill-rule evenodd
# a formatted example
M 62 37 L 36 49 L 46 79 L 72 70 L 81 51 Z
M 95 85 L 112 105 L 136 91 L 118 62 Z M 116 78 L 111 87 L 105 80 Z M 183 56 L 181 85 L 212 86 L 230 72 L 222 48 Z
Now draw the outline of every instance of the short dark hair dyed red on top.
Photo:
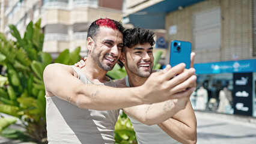
M 117 29 L 122 34 L 124 32 L 124 27 L 121 22 L 118 22 L 118 21 L 112 20 L 112 19 L 108 19 L 108 18 L 97 19 L 93 23 L 91 23 L 91 25 L 88 29 L 87 38 L 91 37 L 91 38 L 93 38 L 93 40 L 95 40 L 95 37 L 99 32 L 100 26 L 106 26 L 108 28 Z

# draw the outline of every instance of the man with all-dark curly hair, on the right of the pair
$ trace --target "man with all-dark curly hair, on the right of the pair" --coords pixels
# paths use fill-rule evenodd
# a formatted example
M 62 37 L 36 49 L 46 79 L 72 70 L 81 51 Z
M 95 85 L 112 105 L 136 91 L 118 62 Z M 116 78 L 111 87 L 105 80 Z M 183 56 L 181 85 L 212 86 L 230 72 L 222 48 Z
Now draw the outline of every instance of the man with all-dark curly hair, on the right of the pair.
M 153 45 L 154 32 L 148 29 L 134 28 L 126 29 L 124 35 L 124 47 L 119 62 L 126 68 L 127 76 L 124 79 L 116 80 L 115 83 L 134 87 L 142 85 L 150 76 L 153 70 Z M 191 53 L 191 64 L 193 67 L 195 53 Z M 78 62 L 79 67 L 85 65 L 84 61 Z M 160 95 L 157 95 L 160 96 Z M 184 100 L 186 101 L 186 100 Z M 169 144 L 169 143 L 197 143 L 197 119 L 190 102 L 187 104 L 183 100 L 168 100 L 162 103 L 143 104 L 139 106 L 123 108 L 129 116 L 136 132 L 139 144 Z M 172 106 L 186 105 L 184 110 L 180 110 L 175 115 L 166 113 L 167 120 L 162 122 L 150 121 L 147 119 L 148 113 L 156 113 Z M 139 111 L 147 110 L 144 115 Z M 169 117 L 168 117 L 169 116 Z M 155 124 L 155 125 L 152 125 Z

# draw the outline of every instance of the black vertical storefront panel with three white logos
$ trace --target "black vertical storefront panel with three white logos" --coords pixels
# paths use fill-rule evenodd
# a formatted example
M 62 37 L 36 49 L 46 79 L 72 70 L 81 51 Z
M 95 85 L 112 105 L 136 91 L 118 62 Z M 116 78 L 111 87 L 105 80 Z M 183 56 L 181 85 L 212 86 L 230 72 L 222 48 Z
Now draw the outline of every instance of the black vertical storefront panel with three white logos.
M 233 74 L 234 114 L 252 116 L 252 73 Z

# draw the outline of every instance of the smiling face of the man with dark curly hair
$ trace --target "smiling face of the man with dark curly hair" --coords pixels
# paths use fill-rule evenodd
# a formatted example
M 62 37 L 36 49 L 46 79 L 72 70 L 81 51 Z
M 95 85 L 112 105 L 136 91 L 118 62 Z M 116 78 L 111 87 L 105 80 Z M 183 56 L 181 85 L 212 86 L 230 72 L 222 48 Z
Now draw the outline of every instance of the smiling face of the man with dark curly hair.
M 127 74 L 149 77 L 153 69 L 153 47 L 149 44 L 136 44 L 132 48 L 124 47 L 120 60 L 124 63 Z

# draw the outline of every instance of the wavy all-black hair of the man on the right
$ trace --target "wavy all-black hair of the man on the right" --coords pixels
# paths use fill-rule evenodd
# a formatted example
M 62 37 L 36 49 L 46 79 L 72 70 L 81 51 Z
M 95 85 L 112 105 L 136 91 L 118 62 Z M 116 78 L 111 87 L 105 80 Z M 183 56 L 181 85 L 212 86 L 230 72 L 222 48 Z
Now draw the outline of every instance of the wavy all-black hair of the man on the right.
M 126 29 L 124 35 L 124 46 L 132 48 L 136 44 L 149 43 L 151 46 L 154 45 L 154 32 L 148 29 L 133 28 Z

